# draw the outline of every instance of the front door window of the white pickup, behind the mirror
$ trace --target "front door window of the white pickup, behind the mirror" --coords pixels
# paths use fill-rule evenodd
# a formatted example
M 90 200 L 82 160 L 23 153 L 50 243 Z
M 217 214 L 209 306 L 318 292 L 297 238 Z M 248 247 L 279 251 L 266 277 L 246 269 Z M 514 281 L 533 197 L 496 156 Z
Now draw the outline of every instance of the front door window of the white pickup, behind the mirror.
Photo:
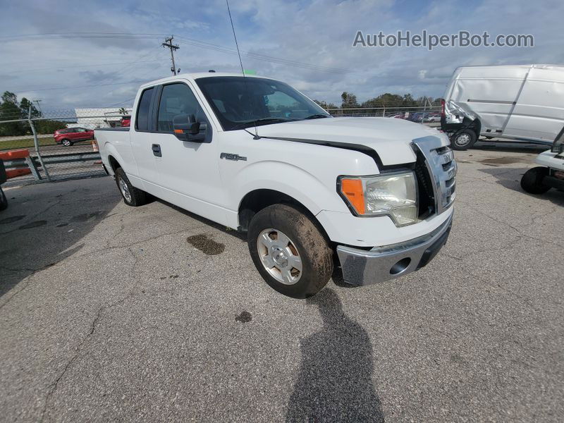
M 173 132 L 172 121 L 178 114 L 193 115 L 197 122 L 207 121 L 200 103 L 188 85 L 183 83 L 164 85 L 159 102 L 159 132 Z

